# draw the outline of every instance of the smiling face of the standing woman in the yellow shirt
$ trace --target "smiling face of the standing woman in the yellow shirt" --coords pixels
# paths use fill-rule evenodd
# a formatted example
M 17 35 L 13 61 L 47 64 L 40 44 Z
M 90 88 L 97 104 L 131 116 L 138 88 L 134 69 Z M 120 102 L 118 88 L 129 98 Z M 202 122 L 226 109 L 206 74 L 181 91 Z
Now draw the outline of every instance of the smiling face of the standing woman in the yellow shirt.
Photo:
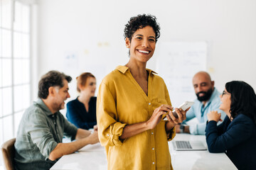
M 130 59 L 138 62 L 147 62 L 154 54 L 156 34 L 151 26 L 139 28 L 132 35 L 132 40 L 125 40 L 130 51 Z

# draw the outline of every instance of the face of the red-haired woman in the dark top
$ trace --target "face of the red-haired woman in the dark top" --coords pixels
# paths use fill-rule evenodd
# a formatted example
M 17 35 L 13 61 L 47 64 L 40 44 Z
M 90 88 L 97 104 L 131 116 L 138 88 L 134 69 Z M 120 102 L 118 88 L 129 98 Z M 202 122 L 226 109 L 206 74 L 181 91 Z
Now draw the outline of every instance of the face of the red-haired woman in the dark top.
M 94 77 L 88 77 L 85 86 L 81 86 L 80 93 L 86 94 L 87 96 L 95 96 L 96 90 L 96 79 Z

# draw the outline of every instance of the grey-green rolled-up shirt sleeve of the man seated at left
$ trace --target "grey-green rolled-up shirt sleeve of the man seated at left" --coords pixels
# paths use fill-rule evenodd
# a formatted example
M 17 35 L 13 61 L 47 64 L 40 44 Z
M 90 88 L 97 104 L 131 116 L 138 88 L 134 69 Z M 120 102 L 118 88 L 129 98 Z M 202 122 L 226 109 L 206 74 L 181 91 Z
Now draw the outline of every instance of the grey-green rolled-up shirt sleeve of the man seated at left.
M 53 151 L 58 143 L 55 142 L 53 135 L 48 128 L 46 115 L 32 113 L 31 116 L 29 116 L 27 123 L 27 133 L 31 136 L 32 142 L 36 144 L 41 154 L 48 158 L 50 152 Z

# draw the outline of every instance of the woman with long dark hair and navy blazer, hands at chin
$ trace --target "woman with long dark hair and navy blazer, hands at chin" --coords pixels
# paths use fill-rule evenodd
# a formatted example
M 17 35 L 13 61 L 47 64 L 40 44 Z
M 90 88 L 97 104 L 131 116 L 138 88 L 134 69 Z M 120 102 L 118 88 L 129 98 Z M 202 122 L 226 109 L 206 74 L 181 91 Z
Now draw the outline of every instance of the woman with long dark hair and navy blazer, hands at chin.
M 225 152 L 238 169 L 256 169 L 256 95 L 244 81 L 230 81 L 220 95 L 220 113 L 208 113 L 206 142 L 209 152 Z

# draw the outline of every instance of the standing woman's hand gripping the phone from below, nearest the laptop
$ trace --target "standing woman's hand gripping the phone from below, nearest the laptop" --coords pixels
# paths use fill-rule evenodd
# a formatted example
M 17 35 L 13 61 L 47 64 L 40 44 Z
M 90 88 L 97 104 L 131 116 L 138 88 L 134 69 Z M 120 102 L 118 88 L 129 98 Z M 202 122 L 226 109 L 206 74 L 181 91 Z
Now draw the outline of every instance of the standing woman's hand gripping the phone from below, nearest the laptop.
M 169 113 L 166 115 L 166 118 L 167 120 L 169 120 L 169 122 L 174 124 L 182 123 L 183 120 L 186 120 L 186 113 L 188 110 L 189 108 L 187 108 L 186 111 L 183 111 L 181 108 L 175 108 L 178 118 L 174 116 L 174 113 L 172 113 L 172 111 L 169 111 Z

